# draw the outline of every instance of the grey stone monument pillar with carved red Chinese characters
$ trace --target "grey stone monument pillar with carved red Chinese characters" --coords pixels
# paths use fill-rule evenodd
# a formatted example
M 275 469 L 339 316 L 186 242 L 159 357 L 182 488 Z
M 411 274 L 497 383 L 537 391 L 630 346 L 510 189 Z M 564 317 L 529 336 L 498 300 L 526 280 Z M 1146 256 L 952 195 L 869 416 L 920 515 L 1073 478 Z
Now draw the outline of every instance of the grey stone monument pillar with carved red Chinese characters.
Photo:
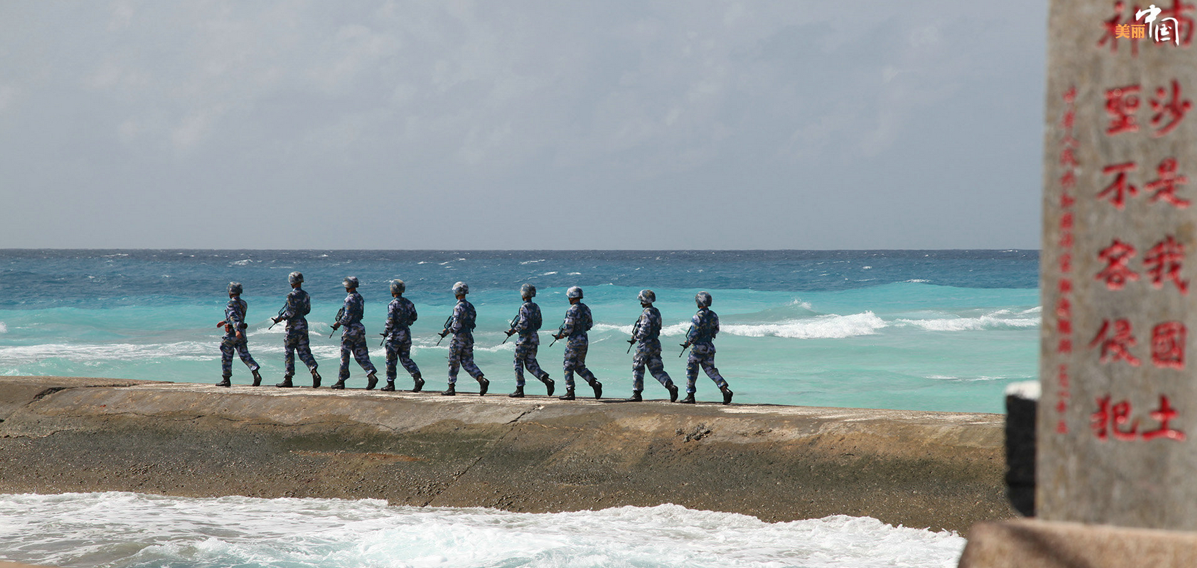
M 1051 0 L 1043 520 L 1197 531 L 1197 0 L 1189 1 Z

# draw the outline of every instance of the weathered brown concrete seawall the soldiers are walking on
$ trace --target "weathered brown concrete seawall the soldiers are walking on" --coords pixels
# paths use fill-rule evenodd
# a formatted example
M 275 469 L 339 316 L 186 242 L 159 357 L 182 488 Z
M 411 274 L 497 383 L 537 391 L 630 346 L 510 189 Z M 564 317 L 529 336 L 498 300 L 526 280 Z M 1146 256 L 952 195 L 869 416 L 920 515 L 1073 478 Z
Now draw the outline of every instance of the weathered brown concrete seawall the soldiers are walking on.
M 1014 516 L 1001 415 L 0 377 L 0 418 L 4 493 Z

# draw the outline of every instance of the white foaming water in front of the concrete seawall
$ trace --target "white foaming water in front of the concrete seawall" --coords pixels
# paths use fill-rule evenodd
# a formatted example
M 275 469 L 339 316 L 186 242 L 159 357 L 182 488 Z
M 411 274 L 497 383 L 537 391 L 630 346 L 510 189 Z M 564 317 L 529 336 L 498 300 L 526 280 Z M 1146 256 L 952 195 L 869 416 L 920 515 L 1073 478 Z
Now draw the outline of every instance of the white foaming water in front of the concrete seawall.
M 576 513 L 385 501 L 0 495 L 8 560 L 55 566 L 954 567 L 954 533 L 845 515 L 768 524 L 675 504 Z

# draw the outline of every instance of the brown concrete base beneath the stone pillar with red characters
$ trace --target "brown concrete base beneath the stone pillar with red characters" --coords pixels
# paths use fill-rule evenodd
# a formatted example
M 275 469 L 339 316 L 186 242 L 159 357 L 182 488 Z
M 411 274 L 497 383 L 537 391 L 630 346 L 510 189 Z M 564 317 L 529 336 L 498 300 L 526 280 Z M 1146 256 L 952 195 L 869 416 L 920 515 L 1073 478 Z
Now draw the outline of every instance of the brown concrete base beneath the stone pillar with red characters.
M 960 568 L 1192 568 L 1197 533 L 1020 519 L 973 527 Z

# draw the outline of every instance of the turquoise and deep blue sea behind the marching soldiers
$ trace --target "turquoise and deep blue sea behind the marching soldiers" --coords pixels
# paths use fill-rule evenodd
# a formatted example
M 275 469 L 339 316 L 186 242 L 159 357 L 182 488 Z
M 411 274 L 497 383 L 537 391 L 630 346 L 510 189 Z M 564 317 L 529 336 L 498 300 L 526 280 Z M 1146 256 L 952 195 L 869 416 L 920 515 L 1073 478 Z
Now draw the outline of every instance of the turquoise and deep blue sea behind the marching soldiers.
M 581 285 L 595 316 L 588 363 L 608 395 L 631 392 L 625 339 L 637 292 L 656 291 L 666 370 L 685 380 L 676 346 L 707 290 L 723 331 L 716 362 L 737 403 L 1002 412 L 1009 382 L 1037 376 L 1039 291 L 1033 250 L 451 252 L 451 250 L 0 250 L 0 374 L 215 382 L 215 322 L 230 280 L 244 284 L 249 348 L 267 381 L 282 374 L 286 274 L 312 296 L 311 345 L 327 377 L 339 344 L 328 324 L 357 276 L 366 333 L 378 340 L 387 282 L 402 278 L 420 313 L 413 357 L 430 386 L 445 376 L 436 332 L 456 280 L 478 308 L 475 357 L 492 392 L 515 385 L 503 330 L 530 282 L 555 328 L 565 289 Z M 542 338 L 547 333 L 542 333 Z M 564 346 L 543 340 L 540 362 L 560 377 Z M 377 343 L 371 358 L 382 365 Z M 351 364 L 350 386 L 364 373 Z M 233 362 L 233 382 L 250 375 Z M 400 387 L 406 385 L 400 370 Z M 539 386 L 529 392 L 539 394 Z M 717 400 L 705 375 L 699 400 Z M 666 395 L 655 381 L 646 398 Z

